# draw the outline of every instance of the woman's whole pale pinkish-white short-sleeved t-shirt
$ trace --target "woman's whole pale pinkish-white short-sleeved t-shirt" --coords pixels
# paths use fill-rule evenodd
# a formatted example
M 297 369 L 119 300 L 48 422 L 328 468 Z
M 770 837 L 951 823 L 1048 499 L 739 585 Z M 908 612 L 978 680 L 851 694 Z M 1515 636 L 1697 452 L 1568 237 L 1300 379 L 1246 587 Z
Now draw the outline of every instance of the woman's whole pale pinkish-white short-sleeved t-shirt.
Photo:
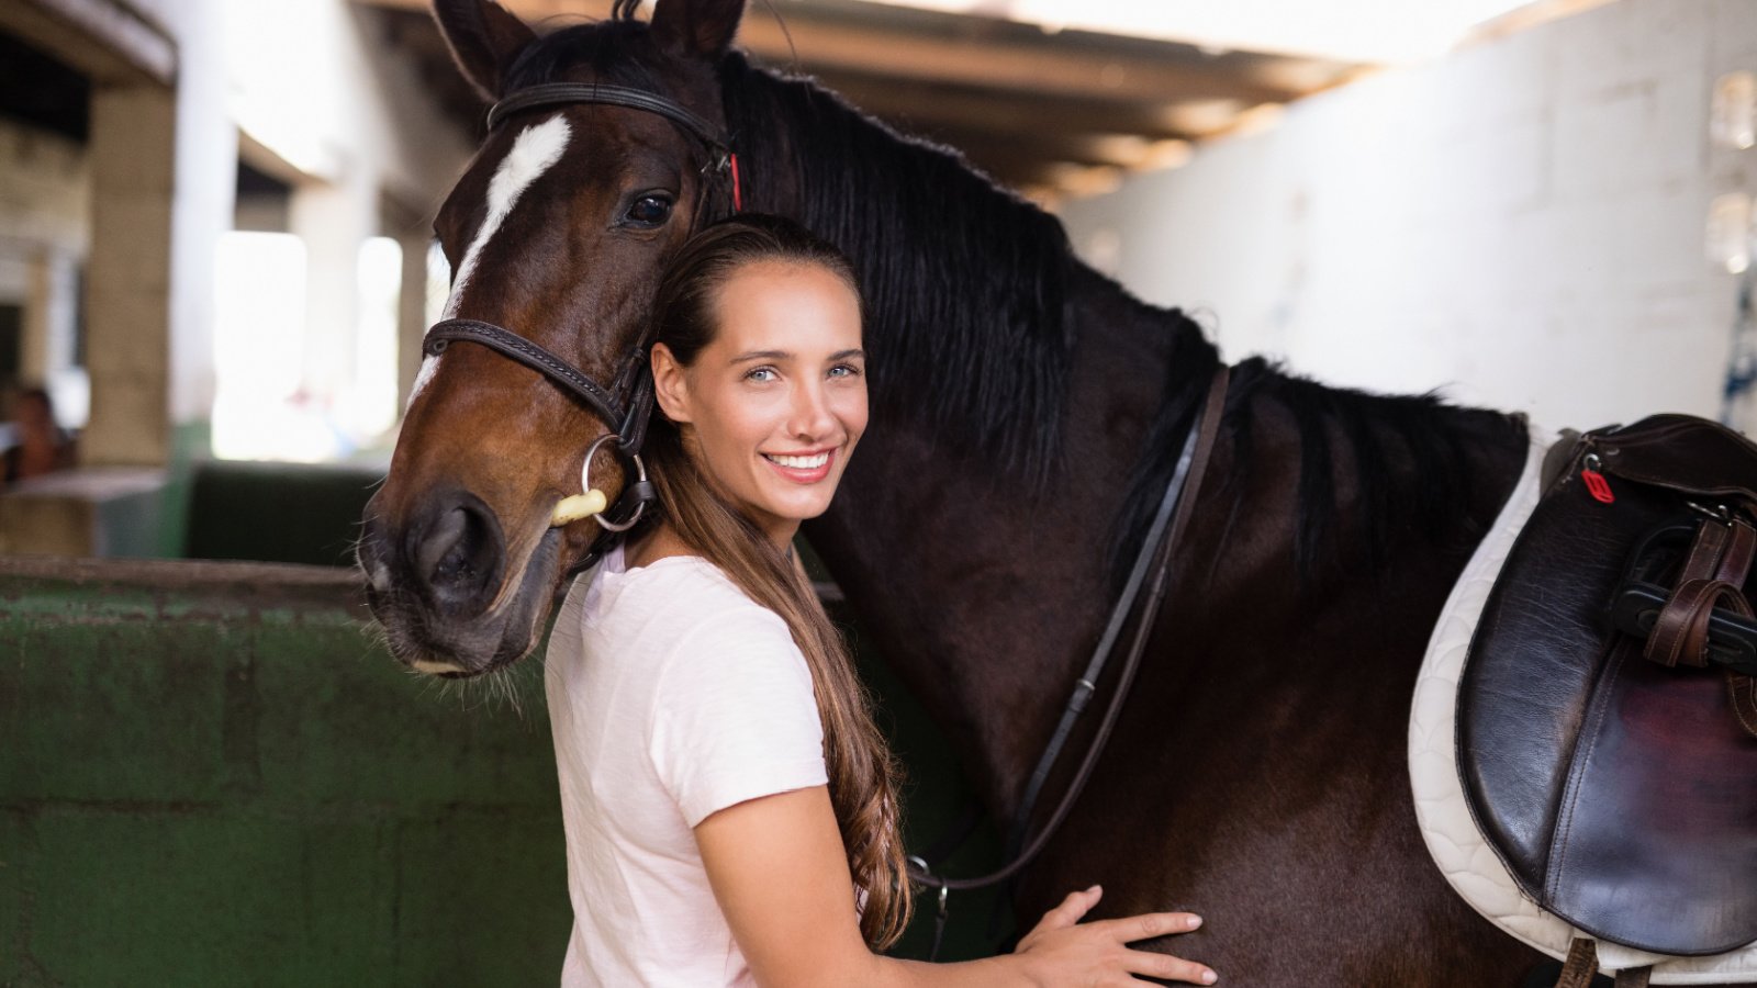
M 828 781 L 787 624 L 706 559 L 625 570 L 617 548 L 568 592 L 545 689 L 573 900 L 562 984 L 754 984 L 692 828 Z

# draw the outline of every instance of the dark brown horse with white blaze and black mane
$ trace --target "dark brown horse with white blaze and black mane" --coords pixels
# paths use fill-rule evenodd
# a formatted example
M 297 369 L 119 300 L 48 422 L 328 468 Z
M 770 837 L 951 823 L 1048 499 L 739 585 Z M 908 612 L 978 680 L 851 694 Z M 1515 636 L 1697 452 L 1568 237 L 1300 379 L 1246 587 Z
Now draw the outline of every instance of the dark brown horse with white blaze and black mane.
M 490 0 L 437 16 L 487 97 L 555 81 L 662 95 L 729 135 L 747 209 L 856 258 L 873 427 L 808 538 L 1007 819 L 1218 352 L 956 153 L 754 67 L 731 49 L 741 5 L 659 0 L 648 25 L 618 2 L 545 37 Z M 615 380 L 661 265 L 727 207 L 715 153 L 625 104 L 499 120 L 436 225 L 448 315 Z M 610 431 L 487 346 L 427 359 L 360 545 L 404 661 L 474 675 L 536 645 L 596 534 L 550 512 Z M 1435 872 L 1404 737 L 1428 629 L 1525 447 L 1516 417 L 1237 366 L 1147 661 L 1019 912 L 1103 883 L 1110 914 L 1202 912 L 1177 949 L 1232 984 L 1518 984 L 1541 958 Z M 610 447 L 592 464 L 611 494 L 620 469 Z

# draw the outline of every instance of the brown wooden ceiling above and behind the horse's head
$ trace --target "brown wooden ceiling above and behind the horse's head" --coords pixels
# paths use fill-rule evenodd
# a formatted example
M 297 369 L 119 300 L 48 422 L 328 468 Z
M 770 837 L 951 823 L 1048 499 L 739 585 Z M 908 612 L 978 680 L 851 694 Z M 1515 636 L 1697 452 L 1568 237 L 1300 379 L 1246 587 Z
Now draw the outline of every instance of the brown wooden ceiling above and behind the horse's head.
M 459 121 L 483 105 L 452 67 L 425 0 L 355 0 L 420 65 Z M 501 0 L 529 23 L 601 19 L 610 0 Z M 1044 202 L 1181 163 L 1189 142 L 1365 67 L 942 14 L 864 0 L 752 4 L 738 44 L 815 76 L 891 127 L 961 149 Z

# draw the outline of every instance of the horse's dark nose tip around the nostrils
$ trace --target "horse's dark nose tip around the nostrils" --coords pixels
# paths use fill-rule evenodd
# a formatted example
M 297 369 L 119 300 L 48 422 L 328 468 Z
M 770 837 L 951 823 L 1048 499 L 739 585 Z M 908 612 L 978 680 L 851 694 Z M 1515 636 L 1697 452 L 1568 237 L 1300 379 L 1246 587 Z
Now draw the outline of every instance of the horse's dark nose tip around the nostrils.
M 488 608 L 506 568 L 506 540 L 494 512 L 469 492 L 429 498 L 401 531 L 367 510 L 360 563 L 372 589 L 395 580 L 439 615 L 474 617 Z

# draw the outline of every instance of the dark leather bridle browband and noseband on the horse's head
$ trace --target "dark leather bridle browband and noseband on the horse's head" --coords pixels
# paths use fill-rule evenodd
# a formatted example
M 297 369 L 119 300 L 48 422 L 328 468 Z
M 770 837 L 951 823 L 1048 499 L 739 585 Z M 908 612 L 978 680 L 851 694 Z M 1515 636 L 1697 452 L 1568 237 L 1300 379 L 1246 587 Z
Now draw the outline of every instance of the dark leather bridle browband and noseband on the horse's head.
M 492 132 L 510 116 L 522 111 L 575 104 L 638 109 L 676 123 L 691 137 L 701 141 L 701 144 L 708 149 L 708 160 L 701 167 L 701 174 L 706 181 L 699 185 L 694 216 L 703 214 L 701 206 L 706 199 L 708 188 L 722 183 L 731 186 L 727 197 L 729 213 L 743 209 L 743 190 L 740 188 L 738 179 L 738 155 L 733 153 L 726 134 L 683 105 L 657 93 L 597 83 L 546 83 L 541 86 L 529 86 L 503 98 L 488 109 L 488 130 Z M 648 336 L 648 332 L 641 332 L 634 350 L 622 359 L 617 378 L 608 389 L 594 381 L 585 371 L 580 371 L 568 360 L 562 360 L 531 339 L 490 322 L 450 318 L 434 323 L 427 331 L 427 338 L 422 341 L 423 357 L 437 357 L 446 350 L 446 346 L 457 341 L 487 346 L 488 350 L 494 350 L 495 353 L 543 374 L 560 390 L 597 415 L 606 425 L 610 425 L 610 429 L 613 429 L 611 434 L 601 436 L 587 450 L 585 466 L 580 471 L 582 485 L 590 483 L 592 455 L 611 438 L 615 440 L 617 452 L 622 459 L 636 468 L 638 480 L 624 483 L 622 494 L 608 510 L 590 515 L 599 524 L 601 531 L 592 541 L 585 559 L 575 564 L 573 571 L 596 563 L 606 550 L 610 550 L 611 545 L 615 545 L 615 540 L 620 538 L 624 531 L 633 527 L 641 519 L 647 505 L 657 499 L 654 485 L 647 480 L 647 468 L 640 459 L 641 445 L 647 440 L 647 422 L 652 418 L 654 408 L 654 383 L 652 374 L 647 373 Z M 624 469 L 624 476 L 627 476 L 627 469 Z M 585 487 L 582 494 L 589 496 L 590 489 Z

